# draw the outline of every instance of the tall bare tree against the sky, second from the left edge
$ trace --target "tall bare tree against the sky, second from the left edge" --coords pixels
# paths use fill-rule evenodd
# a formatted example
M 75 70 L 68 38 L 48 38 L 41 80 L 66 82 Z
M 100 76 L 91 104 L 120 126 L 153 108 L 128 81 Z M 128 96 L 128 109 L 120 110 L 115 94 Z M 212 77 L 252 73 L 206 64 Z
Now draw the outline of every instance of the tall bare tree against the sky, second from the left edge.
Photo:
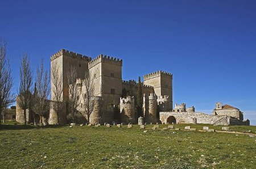
M 17 104 L 20 108 L 23 109 L 24 114 L 24 124 L 27 124 L 27 115 L 26 109 L 30 108 L 31 102 L 31 87 L 32 87 L 32 69 L 30 65 L 30 60 L 28 58 L 28 54 L 25 52 L 22 54 L 22 59 L 19 67 L 19 91 L 18 91 L 18 99 Z

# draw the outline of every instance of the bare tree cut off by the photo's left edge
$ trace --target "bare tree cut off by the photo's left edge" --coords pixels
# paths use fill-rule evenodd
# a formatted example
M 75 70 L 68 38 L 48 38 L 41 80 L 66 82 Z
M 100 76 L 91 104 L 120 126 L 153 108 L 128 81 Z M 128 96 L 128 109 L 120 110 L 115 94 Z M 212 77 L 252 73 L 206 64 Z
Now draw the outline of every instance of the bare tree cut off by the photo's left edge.
M 13 78 L 9 59 L 6 57 L 6 40 L 0 39 L 0 124 L 3 109 L 15 102 L 11 88 L 13 88 Z

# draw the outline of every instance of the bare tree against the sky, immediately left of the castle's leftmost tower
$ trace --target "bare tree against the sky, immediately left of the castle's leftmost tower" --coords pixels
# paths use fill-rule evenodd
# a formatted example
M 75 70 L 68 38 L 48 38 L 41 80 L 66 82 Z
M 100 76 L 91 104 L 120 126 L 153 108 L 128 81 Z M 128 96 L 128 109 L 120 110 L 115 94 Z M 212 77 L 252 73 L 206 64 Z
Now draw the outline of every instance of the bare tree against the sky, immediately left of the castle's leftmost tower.
M 36 69 L 35 89 L 32 97 L 32 111 L 34 112 L 34 124 L 35 113 L 40 117 L 40 124 L 43 124 L 43 117 L 46 117 L 49 113 L 49 73 L 44 70 L 43 59 L 40 67 Z

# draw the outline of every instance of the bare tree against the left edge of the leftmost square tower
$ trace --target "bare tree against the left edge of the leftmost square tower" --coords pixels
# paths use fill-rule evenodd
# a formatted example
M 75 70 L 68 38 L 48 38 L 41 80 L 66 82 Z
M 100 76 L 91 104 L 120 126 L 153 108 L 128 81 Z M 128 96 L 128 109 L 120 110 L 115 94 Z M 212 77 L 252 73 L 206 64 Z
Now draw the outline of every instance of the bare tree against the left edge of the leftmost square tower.
M 63 77 L 60 67 L 56 62 L 51 65 L 51 86 L 52 86 L 52 108 L 57 113 L 57 124 L 59 124 L 60 113 L 63 111 Z

